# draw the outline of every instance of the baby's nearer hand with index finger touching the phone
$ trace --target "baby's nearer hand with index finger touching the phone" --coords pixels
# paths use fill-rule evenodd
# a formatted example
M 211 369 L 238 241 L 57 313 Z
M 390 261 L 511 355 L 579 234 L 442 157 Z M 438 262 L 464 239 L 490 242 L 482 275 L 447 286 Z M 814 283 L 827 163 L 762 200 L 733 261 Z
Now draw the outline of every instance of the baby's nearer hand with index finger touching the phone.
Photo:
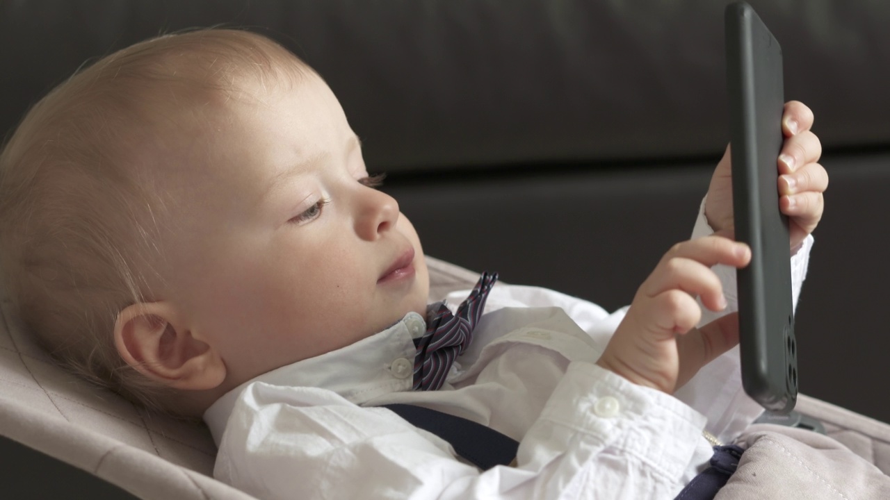
M 596 364 L 627 380 L 672 394 L 712 359 L 739 343 L 738 315 L 701 328 L 701 309 L 724 310 L 723 286 L 711 266 L 745 267 L 747 245 L 722 236 L 672 247 L 637 290 L 634 302 Z

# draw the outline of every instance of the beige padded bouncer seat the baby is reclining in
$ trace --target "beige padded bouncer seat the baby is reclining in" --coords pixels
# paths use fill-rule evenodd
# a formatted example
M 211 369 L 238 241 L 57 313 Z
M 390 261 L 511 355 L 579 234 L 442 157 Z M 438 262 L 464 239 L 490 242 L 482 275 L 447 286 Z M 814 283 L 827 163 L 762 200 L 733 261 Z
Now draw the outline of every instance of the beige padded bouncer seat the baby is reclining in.
M 428 258 L 430 298 L 471 288 L 478 274 Z M 4 300 L 0 320 L 0 435 L 145 499 L 253 499 L 212 477 L 216 449 L 203 423 L 134 407 L 61 371 L 22 331 Z M 890 472 L 890 425 L 801 396 L 797 409 Z M 4 460 L 14 457 L 4 456 Z M 77 497 L 92 498 L 86 492 Z

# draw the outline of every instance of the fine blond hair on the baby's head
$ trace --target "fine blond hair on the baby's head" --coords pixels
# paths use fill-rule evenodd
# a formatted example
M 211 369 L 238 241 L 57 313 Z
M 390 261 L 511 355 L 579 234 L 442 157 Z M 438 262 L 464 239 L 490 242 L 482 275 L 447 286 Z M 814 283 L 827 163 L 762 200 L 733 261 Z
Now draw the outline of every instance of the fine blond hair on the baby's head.
M 158 36 L 77 72 L 39 101 L 0 153 L 0 275 L 28 330 L 63 367 L 145 407 L 172 390 L 117 353 L 128 305 L 163 283 L 158 237 L 174 200 L 153 190 L 151 150 L 191 107 L 300 77 L 270 39 L 206 29 Z M 203 101 L 202 101 L 203 100 Z

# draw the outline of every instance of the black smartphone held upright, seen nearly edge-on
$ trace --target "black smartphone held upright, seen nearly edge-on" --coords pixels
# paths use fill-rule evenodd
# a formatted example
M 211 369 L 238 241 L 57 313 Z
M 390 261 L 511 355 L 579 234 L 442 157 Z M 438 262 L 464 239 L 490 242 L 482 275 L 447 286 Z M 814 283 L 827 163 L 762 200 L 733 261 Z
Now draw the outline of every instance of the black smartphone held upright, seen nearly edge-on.
M 726 87 L 735 238 L 751 247 L 737 271 L 742 385 L 766 410 L 797 403 L 797 343 L 788 217 L 779 210 L 785 97 L 779 42 L 744 2 L 725 10 Z

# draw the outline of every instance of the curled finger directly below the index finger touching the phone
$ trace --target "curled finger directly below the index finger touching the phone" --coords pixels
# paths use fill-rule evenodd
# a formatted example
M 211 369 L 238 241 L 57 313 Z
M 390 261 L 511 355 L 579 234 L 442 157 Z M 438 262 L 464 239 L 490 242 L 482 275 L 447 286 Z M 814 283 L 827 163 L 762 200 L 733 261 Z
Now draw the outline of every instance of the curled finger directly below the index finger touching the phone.
M 720 278 L 701 262 L 684 257 L 674 257 L 662 262 L 645 281 L 643 293 L 654 297 L 671 289 L 700 296 L 701 303 L 710 310 L 726 308 Z

